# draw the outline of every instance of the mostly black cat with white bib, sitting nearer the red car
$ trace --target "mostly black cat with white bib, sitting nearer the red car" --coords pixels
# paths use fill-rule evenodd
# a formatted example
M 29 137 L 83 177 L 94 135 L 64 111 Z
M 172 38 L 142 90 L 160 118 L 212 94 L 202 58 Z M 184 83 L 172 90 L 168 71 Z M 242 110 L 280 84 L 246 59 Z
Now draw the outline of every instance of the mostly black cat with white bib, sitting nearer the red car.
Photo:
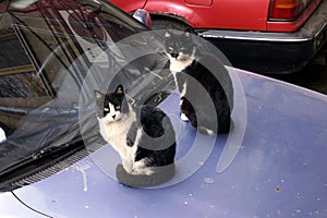
M 233 88 L 229 73 L 217 57 L 202 51 L 190 32 L 165 32 L 169 69 L 180 93 L 181 119 L 204 134 L 228 133 L 232 124 Z M 207 66 L 215 70 L 213 73 Z M 210 98 L 204 100 L 205 89 Z M 216 117 L 216 119 L 214 119 Z

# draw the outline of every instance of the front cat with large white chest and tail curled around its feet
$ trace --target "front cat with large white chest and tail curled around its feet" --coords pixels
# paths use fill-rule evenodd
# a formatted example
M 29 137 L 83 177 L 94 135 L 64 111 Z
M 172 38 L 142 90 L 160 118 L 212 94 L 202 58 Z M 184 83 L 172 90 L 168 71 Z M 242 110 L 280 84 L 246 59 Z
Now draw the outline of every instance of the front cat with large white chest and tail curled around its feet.
M 101 136 L 120 155 L 117 179 L 130 186 L 154 186 L 174 175 L 175 135 L 169 117 L 154 106 L 132 107 L 119 85 L 95 92 Z

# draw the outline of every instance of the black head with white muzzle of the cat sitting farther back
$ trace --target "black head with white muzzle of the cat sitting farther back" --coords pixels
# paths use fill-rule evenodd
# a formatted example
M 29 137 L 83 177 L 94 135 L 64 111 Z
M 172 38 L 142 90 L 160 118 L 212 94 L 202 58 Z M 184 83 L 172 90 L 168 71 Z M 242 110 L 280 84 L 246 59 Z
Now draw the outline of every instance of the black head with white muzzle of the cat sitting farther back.
M 193 58 L 195 47 L 189 32 L 182 34 L 165 33 L 166 52 L 171 61 L 187 61 Z

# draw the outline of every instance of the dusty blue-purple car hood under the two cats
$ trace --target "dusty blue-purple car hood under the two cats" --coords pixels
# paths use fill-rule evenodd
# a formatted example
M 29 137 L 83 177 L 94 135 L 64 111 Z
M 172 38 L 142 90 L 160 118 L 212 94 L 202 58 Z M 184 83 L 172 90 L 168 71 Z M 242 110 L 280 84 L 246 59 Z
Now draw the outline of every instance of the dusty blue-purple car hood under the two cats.
M 160 107 L 181 126 L 177 177 L 199 166 L 185 180 L 157 189 L 121 185 L 114 179 L 119 158 L 106 145 L 13 192 L 51 217 L 326 217 L 327 96 L 252 73 L 237 75 L 245 93 L 246 130 L 241 149 L 222 172 L 216 167 L 227 135 L 217 137 L 205 161 L 179 159 L 198 135 L 178 119 L 179 95 L 171 94 Z M 209 137 L 201 142 L 206 146 Z

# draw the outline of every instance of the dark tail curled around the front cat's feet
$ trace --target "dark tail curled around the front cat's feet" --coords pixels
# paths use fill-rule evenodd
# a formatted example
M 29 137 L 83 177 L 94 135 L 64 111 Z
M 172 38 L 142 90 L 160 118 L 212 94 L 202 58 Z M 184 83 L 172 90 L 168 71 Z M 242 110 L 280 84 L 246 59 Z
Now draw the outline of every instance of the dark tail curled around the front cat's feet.
M 150 187 L 159 185 L 170 180 L 174 173 L 174 164 L 165 167 L 158 167 L 150 175 L 128 173 L 122 165 L 118 165 L 116 168 L 116 177 L 118 181 L 124 185 L 133 187 Z

